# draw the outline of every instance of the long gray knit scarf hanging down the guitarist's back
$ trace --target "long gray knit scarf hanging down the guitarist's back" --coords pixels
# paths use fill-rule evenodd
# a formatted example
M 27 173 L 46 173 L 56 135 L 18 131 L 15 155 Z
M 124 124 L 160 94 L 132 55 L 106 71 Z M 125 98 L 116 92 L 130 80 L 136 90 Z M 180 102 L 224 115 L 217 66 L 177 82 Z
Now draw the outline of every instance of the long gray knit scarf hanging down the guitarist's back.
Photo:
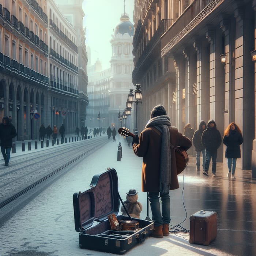
M 169 193 L 171 180 L 171 150 L 170 150 L 170 118 L 168 116 L 157 116 L 151 118 L 146 124 L 146 128 L 154 126 L 162 133 L 161 158 L 159 169 L 159 191 Z

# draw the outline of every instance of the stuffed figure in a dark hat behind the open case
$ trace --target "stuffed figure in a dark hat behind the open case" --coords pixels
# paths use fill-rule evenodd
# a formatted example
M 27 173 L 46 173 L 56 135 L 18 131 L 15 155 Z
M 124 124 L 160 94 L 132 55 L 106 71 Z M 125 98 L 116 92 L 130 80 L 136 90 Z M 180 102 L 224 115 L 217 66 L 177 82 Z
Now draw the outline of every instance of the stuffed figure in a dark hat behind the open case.
M 140 212 L 142 211 L 142 204 L 138 202 L 138 192 L 135 189 L 130 189 L 126 193 L 126 201 L 124 201 L 124 206 L 127 209 L 129 215 L 133 218 L 140 218 Z M 127 216 L 124 207 L 121 207 L 121 212 L 124 216 Z

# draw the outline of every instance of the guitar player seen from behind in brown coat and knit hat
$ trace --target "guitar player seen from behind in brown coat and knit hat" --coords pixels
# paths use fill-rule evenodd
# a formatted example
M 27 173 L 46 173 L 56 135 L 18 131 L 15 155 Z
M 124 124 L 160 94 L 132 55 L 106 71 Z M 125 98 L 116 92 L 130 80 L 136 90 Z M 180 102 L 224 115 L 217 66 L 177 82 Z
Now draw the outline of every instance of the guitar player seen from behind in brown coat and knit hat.
M 192 143 L 171 125 L 170 118 L 166 115 L 166 110 L 162 105 L 155 106 L 150 117 L 140 137 L 136 135 L 133 139 L 132 149 L 138 157 L 143 157 L 142 191 L 148 192 L 150 200 L 155 227 L 152 236 L 163 237 L 169 236 L 169 192 L 179 187 L 174 148 L 181 146 L 188 150 Z

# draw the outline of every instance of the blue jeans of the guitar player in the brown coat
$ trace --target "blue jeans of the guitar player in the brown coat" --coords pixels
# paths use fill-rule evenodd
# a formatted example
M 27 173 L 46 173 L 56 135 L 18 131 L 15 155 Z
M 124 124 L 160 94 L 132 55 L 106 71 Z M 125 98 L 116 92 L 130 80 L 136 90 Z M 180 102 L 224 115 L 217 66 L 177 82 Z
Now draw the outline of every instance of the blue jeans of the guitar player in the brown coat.
M 152 220 L 154 225 L 161 226 L 163 223 L 169 224 L 170 219 L 170 196 L 169 193 L 162 194 L 160 193 L 162 201 L 162 215 L 160 210 L 159 203 L 159 192 L 148 192 L 148 197 L 150 201 L 150 207 L 152 211 Z

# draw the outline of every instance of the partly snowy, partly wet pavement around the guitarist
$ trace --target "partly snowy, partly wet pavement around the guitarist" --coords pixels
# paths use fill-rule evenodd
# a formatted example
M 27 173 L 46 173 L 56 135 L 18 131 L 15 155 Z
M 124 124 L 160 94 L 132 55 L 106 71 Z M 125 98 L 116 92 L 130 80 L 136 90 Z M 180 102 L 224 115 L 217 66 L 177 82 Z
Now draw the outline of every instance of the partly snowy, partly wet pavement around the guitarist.
M 117 161 L 118 142 L 122 145 L 121 161 Z M 146 193 L 140 187 L 141 165 L 142 158 L 133 154 L 123 138 L 117 136 L 116 142 L 110 140 L 1 227 L 0 255 L 109 255 L 79 248 L 72 194 L 87 189 L 94 174 L 106 167 L 114 168 L 123 200 L 129 189 L 139 191 L 138 201 L 143 205 L 140 218 L 145 219 Z M 250 170 L 239 168 L 236 179 L 227 178 L 226 163 L 217 163 L 216 174 L 206 177 L 202 171 L 197 172 L 195 158 L 189 157 L 188 167 L 178 176 L 180 188 L 170 191 L 170 228 L 178 225 L 175 232 L 164 238 L 149 237 L 125 255 L 256 255 L 256 180 L 251 178 Z M 189 217 L 200 210 L 218 214 L 217 237 L 208 246 L 188 242 Z

